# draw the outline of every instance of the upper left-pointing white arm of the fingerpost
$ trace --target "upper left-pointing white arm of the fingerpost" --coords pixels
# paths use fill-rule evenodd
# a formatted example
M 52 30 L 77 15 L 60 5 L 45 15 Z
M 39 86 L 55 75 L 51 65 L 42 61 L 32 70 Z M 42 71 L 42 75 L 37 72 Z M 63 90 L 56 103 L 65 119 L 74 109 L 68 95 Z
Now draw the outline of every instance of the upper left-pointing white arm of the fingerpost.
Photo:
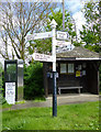
M 45 32 L 45 33 L 34 33 L 26 36 L 27 41 L 38 40 L 38 38 L 48 38 L 52 37 L 52 32 Z

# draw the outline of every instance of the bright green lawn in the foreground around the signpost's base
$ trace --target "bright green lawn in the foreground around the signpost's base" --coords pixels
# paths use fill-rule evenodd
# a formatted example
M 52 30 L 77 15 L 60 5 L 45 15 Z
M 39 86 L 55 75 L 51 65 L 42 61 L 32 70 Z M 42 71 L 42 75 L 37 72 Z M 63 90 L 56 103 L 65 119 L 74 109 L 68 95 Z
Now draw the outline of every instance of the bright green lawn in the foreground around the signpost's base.
M 29 108 L 3 111 L 3 130 L 99 130 L 99 101 L 58 106 L 57 117 L 52 108 Z

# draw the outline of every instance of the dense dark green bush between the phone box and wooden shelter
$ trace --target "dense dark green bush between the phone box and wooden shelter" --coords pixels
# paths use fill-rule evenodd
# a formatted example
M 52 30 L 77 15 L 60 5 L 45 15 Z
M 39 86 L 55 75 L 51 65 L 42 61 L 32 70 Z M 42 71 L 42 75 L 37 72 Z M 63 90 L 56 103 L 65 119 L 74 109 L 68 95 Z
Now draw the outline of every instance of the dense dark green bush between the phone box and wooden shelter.
M 35 99 L 43 95 L 43 64 L 35 62 L 29 67 L 24 66 L 24 99 Z

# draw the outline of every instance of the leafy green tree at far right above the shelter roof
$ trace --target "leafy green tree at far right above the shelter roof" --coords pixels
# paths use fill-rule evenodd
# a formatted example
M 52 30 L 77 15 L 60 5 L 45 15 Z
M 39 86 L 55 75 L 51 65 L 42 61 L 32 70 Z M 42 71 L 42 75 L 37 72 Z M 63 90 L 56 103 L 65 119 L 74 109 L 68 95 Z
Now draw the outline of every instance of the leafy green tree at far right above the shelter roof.
M 82 25 L 80 36 L 86 42 L 86 47 L 99 52 L 101 37 L 100 37 L 100 4 L 91 0 L 83 7 L 86 18 L 86 25 Z

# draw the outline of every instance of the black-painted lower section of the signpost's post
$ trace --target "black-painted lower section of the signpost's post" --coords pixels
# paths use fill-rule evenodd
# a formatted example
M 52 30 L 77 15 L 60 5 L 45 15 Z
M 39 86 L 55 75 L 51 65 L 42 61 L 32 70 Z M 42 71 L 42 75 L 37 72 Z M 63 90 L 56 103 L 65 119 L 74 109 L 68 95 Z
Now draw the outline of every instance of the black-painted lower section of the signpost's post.
M 53 72 L 53 117 L 57 117 L 56 72 Z

